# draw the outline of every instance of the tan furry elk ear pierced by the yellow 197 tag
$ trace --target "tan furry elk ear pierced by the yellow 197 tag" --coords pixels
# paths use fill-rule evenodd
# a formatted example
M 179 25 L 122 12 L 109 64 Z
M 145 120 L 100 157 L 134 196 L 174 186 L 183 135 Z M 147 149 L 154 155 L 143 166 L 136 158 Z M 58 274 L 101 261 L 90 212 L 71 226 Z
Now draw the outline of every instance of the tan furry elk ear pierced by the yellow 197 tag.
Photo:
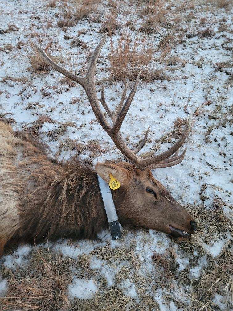
M 120 183 L 124 183 L 127 178 L 127 170 L 113 163 L 97 163 L 95 166 L 96 173 L 103 178 L 106 183 L 109 183 L 109 174 L 112 174 Z

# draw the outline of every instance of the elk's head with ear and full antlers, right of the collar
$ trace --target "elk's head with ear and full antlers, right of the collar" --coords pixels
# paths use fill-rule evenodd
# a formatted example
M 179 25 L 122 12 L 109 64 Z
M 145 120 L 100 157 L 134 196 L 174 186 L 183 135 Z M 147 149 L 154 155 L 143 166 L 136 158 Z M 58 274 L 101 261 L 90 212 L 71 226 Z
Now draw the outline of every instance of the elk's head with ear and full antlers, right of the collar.
M 96 63 L 106 37 L 107 33 L 92 53 L 85 77 L 79 77 L 60 67 L 54 63 L 42 49 L 38 46 L 35 47 L 40 56 L 43 57 L 51 67 L 79 83 L 85 89 L 98 122 L 112 138 L 112 141 L 119 151 L 131 162 L 106 162 L 96 165 L 97 173 L 106 182 L 109 182 L 109 174 L 112 174 L 121 182 L 121 187 L 112 191 L 112 197 L 121 224 L 159 230 L 171 234 L 176 239 L 187 239 L 195 232 L 197 228 L 196 222 L 192 216 L 176 202 L 164 186 L 153 178 L 150 170 L 177 165 L 184 159 L 186 148 L 180 155 L 178 155 L 178 152 L 190 131 L 192 114 L 187 120 L 186 127 L 180 139 L 167 151 L 146 159 L 136 155 L 146 142 L 149 128 L 139 146 L 135 150 L 130 150 L 123 140 L 120 128 L 134 98 L 140 72 L 127 98 L 126 92 L 128 83 L 126 83 L 116 112 L 112 113 L 105 101 L 104 89 L 102 88 L 101 98 L 98 100 L 94 83 Z M 112 120 L 112 126 L 103 115 L 98 103 L 99 101 Z

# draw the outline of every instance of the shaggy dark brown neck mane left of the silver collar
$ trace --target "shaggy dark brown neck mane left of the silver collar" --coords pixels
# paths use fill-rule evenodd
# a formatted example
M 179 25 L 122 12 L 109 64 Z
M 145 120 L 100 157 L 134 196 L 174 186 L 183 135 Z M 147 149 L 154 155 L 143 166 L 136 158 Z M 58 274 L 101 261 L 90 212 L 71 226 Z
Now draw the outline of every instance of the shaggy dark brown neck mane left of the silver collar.
M 58 166 L 48 183 L 24 198 L 24 240 L 94 239 L 108 227 L 96 172 L 78 160 Z M 25 213 L 27 211 L 27 213 Z

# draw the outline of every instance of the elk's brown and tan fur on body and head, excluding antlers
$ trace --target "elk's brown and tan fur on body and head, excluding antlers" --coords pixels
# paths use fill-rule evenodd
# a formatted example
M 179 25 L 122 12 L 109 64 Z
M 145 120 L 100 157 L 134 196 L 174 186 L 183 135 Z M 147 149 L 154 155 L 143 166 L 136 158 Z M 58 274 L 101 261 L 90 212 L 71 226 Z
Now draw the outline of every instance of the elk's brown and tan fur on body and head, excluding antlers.
M 191 216 L 148 169 L 106 162 L 98 163 L 96 171 L 106 181 L 109 173 L 120 180 L 112 196 L 123 225 L 169 233 L 167 226 L 175 224 L 190 231 Z M 93 239 L 107 227 L 97 173 L 89 165 L 51 160 L 42 145 L 0 122 L 0 255 L 15 239 Z

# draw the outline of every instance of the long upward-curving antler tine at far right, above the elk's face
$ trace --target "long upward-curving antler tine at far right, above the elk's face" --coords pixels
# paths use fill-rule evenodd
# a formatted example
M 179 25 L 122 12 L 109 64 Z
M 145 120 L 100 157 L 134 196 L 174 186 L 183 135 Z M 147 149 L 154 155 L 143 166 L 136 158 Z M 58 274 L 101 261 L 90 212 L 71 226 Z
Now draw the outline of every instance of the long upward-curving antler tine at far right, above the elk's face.
M 143 159 L 141 161 L 141 163 L 144 165 L 144 167 L 151 166 L 153 164 L 161 162 L 162 160 L 167 159 L 169 156 L 173 155 L 183 145 L 183 143 L 185 142 L 186 137 L 189 134 L 190 128 L 191 128 L 192 118 L 193 118 L 193 113 L 191 112 L 191 114 L 190 114 L 190 116 L 188 118 L 187 125 L 186 125 L 182 135 L 180 136 L 180 139 L 170 149 L 160 153 L 157 156 L 152 156 L 152 157 Z

